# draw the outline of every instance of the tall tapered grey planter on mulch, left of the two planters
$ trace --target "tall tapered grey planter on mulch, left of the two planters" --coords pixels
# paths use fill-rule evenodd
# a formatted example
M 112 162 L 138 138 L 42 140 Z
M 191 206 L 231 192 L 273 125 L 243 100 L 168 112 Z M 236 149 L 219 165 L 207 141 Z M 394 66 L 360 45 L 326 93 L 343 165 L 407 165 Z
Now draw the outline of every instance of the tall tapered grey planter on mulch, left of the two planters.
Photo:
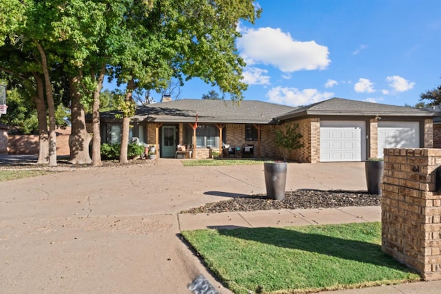
M 287 182 L 287 162 L 265 162 L 263 168 L 267 197 L 274 200 L 283 200 Z

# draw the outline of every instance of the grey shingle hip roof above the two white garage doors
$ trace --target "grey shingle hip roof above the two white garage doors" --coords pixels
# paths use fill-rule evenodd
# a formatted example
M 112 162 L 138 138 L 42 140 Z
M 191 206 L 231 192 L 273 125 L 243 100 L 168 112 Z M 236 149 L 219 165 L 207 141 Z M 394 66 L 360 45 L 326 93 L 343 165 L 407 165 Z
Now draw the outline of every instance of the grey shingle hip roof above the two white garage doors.
M 296 118 L 300 116 L 436 116 L 427 109 L 353 101 L 342 98 L 331 98 L 314 103 L 278 116 L 278 120 Z

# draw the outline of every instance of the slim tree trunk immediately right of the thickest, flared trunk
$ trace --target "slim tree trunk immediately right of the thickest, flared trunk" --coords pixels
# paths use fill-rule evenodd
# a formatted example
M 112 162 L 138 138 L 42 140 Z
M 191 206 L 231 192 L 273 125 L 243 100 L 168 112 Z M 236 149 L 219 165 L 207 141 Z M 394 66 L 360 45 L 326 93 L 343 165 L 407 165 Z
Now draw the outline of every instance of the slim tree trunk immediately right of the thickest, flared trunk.
M 92 104 L 92 165 L 94 167 L 103 165 L 103 162 L 101 162 L 101 132 L 99 127 L 99 93 L 103 87 L 104 74 L 105 63 L 101 65 Z

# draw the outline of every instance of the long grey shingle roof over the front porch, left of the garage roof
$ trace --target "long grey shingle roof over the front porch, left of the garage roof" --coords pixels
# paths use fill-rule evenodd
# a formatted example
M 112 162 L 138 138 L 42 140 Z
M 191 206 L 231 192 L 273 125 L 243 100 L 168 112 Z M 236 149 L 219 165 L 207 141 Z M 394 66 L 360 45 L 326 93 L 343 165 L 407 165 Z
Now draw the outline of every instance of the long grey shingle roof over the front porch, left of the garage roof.
M 271 123 L 295 109 L 262 101 L 233 103 L 224 100 L 181 99 L 170 102 L 139 106 L 135 119 L 156 123 L 192 123 L 198 114 L 200 123 Z

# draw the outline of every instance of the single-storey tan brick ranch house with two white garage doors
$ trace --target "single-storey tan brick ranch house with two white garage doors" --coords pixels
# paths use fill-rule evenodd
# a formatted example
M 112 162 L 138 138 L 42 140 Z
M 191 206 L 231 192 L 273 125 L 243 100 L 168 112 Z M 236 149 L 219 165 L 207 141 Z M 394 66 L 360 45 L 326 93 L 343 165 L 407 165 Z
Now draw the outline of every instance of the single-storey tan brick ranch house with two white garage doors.
M 103 143 L 121 141 L 119 112 L 101 113 Z M 197 115 L 197 127 L 194 128 Z M 383 148 L 433 147 L 433 117 L 438 112 L 331 98 L 306 107 L 261 101 L 183 99 L 139 106 L 130 136 L 156 145 L 158 156 L 174 158 L 178 145 L 193 147 L 193 158 L 209 158 L 223 145 L 253 146 L 252 156 L 277 158 L 276 129 L 297 123 L 304 147 L 288 158 L 298 162 L 363 161 L 382 158 Z M 90 127 L 90 116 L 86 118 Z

